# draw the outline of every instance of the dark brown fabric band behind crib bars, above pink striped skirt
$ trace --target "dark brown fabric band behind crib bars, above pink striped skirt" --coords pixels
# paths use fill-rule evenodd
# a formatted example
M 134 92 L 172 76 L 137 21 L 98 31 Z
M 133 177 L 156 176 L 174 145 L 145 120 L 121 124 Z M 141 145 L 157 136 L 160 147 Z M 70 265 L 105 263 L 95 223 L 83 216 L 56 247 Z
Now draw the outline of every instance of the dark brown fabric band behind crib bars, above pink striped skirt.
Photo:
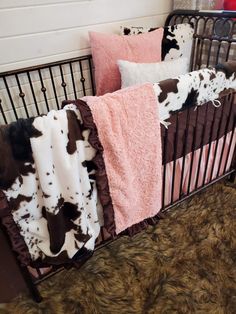
M 171 124 L 166 142 L 166 129 L 161 125 L 163 164 L 183 157 L 235 129 L 235 95 L 222 95 L 220 102 L 218 108 L 208 102 L 173 114 L 168 120 Z

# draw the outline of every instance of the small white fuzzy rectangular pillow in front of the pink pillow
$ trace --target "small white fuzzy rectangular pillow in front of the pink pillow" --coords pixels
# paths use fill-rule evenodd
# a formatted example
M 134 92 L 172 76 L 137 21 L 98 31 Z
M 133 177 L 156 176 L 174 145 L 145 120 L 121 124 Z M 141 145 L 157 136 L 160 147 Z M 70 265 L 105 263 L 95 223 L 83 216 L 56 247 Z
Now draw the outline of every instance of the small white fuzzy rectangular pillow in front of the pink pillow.
M 121 88 L 143 83 L 157 83 L 188 73 L 188 59 L 178 58 L 156 63 L 136 63 L 118 60 Z

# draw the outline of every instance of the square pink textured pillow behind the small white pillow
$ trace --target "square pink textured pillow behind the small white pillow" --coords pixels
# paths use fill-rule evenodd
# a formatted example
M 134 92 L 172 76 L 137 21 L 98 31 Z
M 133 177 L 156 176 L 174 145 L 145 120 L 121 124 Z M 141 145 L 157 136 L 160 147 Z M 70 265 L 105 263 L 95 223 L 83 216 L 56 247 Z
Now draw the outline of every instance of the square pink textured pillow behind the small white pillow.
M 161 61 L 163 28 L 136 36 L 90 32 L 97 95 L 121 87 L 117 60 L 149 63 Z

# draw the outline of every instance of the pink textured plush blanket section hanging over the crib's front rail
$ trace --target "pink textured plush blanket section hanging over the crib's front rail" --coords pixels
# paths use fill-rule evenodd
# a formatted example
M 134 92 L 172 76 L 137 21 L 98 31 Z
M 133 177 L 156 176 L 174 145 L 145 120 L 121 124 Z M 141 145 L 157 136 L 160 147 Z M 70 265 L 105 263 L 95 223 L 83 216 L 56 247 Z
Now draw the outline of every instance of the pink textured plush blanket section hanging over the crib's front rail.
M 104 148 L 116 233 L 161 208 L 161 136 L 152 84 L 85 97 Z

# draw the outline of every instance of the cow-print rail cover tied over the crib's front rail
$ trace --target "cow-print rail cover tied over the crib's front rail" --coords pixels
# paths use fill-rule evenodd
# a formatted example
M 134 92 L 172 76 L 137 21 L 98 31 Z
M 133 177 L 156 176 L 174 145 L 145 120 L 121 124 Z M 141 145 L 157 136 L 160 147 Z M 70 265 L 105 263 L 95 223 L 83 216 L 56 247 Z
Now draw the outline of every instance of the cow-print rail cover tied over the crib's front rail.
M 160 110 L 160 119 L 167 120 L 172 113 L 189 106 L 215 102 L 225 89 L 236 89 L 236 73 L 224 68 L 202 69 L 153 84 Z

